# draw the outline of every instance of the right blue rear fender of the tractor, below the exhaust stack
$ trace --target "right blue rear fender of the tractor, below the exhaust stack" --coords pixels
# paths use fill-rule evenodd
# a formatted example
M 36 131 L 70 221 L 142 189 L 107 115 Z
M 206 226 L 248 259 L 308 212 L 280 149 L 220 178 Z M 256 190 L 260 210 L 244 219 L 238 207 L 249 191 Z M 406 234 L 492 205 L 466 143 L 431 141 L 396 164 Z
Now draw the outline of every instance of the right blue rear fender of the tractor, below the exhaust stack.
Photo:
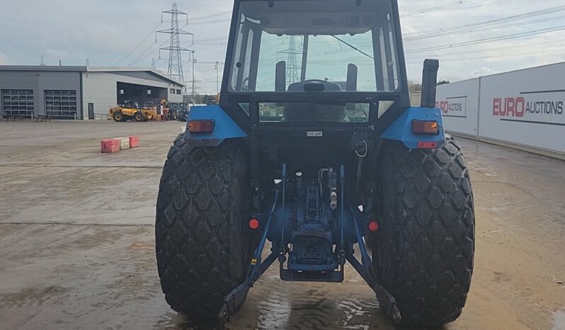
M 412 132 L 412 120 L 435 120 L 438 122 L 440 134 L 416 135 Z M 409 149 L 418 149 L 421 142 L 438 142 L 439 147 L 445 142 L 441 110 L 438 108 L 408 108 L 384 131 L 381 137 L 387 140 L 401 141 Z

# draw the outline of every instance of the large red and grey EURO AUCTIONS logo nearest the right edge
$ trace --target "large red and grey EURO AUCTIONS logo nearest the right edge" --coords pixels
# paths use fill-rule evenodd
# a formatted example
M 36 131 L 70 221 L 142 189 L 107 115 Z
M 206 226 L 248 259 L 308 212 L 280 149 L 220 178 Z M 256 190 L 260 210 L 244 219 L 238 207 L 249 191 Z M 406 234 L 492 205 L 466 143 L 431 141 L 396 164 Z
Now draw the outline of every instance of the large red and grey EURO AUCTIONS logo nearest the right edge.
M 493 98 L 492 115 L 501 121 L 565 126 L 565 90 L 524 91 Z

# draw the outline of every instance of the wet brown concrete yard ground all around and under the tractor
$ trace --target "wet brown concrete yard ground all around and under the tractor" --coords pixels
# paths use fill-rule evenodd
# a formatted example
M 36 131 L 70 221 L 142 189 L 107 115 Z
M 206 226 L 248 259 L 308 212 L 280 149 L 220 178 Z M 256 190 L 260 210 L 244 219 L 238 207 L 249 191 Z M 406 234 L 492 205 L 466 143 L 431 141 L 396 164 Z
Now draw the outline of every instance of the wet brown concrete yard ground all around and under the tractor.
M 0 123 L 0 329 L 207 329 L 161 293 L 154 210 L 179 123 Z M 98 141 L 139 135 L 139 149 Z M 476 199 L 467 307 L 445 329 L 565 329 L 565 162 L 461 140 Z M 227 329 L 394 329 L 353 269 L 270 268 Z

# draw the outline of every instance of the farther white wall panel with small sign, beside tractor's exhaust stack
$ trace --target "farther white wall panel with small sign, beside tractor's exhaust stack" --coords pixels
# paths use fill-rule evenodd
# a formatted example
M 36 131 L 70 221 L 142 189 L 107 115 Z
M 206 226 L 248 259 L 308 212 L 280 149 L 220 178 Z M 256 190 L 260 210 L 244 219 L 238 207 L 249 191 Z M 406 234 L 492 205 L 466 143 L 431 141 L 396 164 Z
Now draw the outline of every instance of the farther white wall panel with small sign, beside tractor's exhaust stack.
M 479 79 L 438 86 L 436 106 L 443 113 L 445 130 L 476 136 Z

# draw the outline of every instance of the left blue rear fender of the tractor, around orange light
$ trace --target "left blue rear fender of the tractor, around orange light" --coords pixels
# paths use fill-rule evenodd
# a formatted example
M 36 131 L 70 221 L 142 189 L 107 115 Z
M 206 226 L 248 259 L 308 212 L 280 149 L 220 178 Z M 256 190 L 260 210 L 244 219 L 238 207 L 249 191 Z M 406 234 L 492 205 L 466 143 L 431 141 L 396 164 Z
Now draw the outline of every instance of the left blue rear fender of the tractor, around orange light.
M 191 144 L 217 147 L 226 139 L 247 137 L 246 132 L 229 117 L 224 109 L 219 106 L 195 106 L 190 108 L 187 125 L 190 120 L 214 120 L 214 130 L 211 133 L 191 134 L 185 133 L 185 140 Z

